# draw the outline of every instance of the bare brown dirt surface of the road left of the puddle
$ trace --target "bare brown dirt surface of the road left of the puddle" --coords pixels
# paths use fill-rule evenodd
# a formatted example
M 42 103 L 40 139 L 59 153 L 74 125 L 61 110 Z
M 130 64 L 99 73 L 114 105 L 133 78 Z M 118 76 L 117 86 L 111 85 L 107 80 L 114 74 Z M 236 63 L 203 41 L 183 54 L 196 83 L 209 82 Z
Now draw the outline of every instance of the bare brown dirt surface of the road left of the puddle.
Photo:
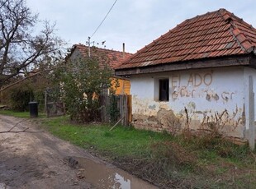
M 20 122 L 17 124 L 17 122 Z M 0 115 L 0 188 L 92 188 L 78 179 L 66 156 L 90 158 L 84 150 L 32 126 L 29 120 Z

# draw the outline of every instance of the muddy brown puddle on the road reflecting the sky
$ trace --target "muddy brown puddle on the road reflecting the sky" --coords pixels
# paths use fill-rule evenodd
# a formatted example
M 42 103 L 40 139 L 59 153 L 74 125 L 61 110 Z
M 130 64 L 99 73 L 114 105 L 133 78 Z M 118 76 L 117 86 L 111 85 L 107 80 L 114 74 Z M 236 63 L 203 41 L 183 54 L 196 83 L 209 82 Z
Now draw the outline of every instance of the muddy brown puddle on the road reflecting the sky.
M 111 168 L 106 164 L 96 163 L 90 159 L 75 157 L 78 160 L 78 168 L 83 169 L 81 174 L 87 182 L 97 188 L 112 189 L 155 189 L 153 185 L 137 177 L 126 173 L 119 168 Z

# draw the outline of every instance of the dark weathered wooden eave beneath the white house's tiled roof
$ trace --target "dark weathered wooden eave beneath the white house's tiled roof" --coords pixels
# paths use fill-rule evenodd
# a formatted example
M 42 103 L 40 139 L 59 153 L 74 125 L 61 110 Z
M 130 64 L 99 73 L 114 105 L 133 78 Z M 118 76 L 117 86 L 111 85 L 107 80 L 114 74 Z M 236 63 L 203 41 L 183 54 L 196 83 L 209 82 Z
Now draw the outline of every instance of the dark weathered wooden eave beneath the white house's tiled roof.
M 254 60 L 254 61 L 253 61 Z M 132 67 L 116 69 L 116 76 L 130 76 L 145 73 L 157 73 L 163 71 L 182 71 L 188 69 L 201 69 L 212 67 L 237 67 L 251 66 L 256 67 L 256 58 L 251 53 L 220 58 L 204 58 L 186 62 L 172 62 L 148 67 Z

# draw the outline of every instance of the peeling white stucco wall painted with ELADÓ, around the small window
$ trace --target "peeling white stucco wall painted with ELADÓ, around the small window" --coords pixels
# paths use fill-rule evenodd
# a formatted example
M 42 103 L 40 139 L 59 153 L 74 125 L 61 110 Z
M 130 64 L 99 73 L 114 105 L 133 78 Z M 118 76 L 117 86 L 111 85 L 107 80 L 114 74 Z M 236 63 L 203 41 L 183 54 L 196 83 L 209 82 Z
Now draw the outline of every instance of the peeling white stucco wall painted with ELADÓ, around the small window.
M 154 131 L 218 129 L 244 138 L 249 75 L 256 71 L 229 67 L 131 76 L 133 123 Z M 168 102 L 158 100 L 162 78 L 169 79 Z

